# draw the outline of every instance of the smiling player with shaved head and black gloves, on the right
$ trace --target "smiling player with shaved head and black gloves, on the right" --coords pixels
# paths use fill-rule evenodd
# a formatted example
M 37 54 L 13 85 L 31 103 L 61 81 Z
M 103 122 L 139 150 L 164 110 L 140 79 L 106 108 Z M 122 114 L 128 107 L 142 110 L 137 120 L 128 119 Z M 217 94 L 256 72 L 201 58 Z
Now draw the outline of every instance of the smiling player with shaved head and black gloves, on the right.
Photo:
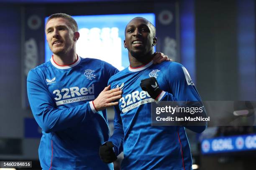
M 154 25 L 145 18 L 133 18 L 125 28 L 130 67 L 108 82 L 123 90 L 114 125 L 124 137 L 114 134 L 100 147 L 100 158 L 110 163 L 123 148 L 122 170 L 192 170 L 184 127 L 151 126 L 151 102 L 201 101 L 185 67 L 177 62 L 152 64 L 156 40 Z M 206 124 L 187 128 L 201 133 Z

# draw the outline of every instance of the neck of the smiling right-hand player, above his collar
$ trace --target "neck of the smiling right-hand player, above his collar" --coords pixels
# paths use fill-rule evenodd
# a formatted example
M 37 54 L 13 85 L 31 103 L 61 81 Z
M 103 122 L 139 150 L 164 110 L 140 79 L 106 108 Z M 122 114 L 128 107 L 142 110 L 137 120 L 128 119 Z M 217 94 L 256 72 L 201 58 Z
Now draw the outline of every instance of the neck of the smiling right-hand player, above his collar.
M 130 52 L 128 52 L 129 55 L 129 62 L 131 67 L 139 67 L 141 65 L 146 65 L 148 62 L 150 62 L 154 57 L 154 52 L 150 51 L 145 55 L 142 55 L 140 57 L 134 57 L 131 55 Z

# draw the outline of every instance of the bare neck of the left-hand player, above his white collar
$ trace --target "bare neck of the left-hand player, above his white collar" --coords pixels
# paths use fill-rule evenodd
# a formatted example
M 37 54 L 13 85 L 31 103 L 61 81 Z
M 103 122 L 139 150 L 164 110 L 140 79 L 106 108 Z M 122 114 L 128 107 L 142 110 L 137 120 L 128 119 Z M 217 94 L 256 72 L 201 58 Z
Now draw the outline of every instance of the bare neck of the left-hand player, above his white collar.
M 53 54 L 54 61 L 58 65 L 70 65 L 77 60 L 77 54 L 75 51 L 70 51 L 65 54 Z

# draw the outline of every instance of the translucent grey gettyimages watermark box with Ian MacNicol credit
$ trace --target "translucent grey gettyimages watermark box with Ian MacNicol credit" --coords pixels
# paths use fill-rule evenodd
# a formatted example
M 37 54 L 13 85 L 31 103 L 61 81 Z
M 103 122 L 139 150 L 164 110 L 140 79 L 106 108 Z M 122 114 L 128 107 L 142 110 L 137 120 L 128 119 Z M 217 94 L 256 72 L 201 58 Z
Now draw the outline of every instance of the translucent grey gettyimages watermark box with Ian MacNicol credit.
M 255 125 L 255 101 L 151 102 L 151 125 Z

